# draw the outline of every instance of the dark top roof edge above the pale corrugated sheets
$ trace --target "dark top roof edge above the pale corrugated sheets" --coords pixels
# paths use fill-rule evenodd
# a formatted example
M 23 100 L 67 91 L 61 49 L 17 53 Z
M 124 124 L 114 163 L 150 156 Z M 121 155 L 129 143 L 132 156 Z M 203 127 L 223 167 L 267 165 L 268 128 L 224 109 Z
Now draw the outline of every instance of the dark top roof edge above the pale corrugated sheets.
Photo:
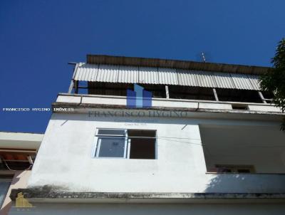
M 86 56 L 86 63 L 109 65 L 133 65 L 145 67 L 177 68 L 185 70 L 206 70 L 224 73 L 244 73 L 261 75 L 271 70 L 270 67 L 256 65 L 238 65 L 227 63 L 204 63 L 160 58 L 136 58 L 125 56 L 92 55 Z

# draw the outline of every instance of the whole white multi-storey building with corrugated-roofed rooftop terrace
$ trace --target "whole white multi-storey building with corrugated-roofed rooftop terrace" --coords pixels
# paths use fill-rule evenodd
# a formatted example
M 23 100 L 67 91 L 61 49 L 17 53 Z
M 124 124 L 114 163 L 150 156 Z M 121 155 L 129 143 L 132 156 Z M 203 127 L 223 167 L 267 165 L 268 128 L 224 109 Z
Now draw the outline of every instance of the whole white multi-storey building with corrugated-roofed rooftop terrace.
M 258 83 L 268 69 L 88 56 L 11 198 L 22 192 L 27 214 L 284 214 L 284 113 Z

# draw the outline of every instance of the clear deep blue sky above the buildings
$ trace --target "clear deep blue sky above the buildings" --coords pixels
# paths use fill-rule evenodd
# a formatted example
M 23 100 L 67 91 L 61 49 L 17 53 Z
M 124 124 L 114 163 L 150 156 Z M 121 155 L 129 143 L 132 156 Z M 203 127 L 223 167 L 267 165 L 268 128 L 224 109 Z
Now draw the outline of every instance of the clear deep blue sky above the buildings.
M 44 132 L 86 54 L 270 65 L 285 1 L 0 1 L 0 130 Z

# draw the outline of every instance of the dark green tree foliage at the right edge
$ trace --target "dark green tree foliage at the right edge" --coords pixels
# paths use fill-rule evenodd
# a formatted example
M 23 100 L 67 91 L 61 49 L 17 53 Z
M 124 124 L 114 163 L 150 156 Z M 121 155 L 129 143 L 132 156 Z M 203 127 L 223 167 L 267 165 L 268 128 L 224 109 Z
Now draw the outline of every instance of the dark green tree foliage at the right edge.
M 272 58 L 273 68 L 266 74 L 261 75 L 261 90 L 273 92 L 273 103 L 276 107 L 285 111 L 285 38 L 283 38 L 276 48 L 274 58 Z M 285 130 L 285 118 L 281 130 Z

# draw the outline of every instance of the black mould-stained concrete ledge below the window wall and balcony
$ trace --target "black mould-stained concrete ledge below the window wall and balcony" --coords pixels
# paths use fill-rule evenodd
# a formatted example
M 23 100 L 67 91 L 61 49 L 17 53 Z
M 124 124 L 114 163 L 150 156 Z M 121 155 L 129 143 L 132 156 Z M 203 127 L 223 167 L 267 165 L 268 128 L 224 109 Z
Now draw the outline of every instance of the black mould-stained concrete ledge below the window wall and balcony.
M 17 194 L 24 194 L 30 202 L 66 203 L 244 203 L 244 202 L 285 202 L 285 193 L 175 193 L 175 192 L 62 192 L 51 189 L 12 189 L 10 198 L 15 201 Z

